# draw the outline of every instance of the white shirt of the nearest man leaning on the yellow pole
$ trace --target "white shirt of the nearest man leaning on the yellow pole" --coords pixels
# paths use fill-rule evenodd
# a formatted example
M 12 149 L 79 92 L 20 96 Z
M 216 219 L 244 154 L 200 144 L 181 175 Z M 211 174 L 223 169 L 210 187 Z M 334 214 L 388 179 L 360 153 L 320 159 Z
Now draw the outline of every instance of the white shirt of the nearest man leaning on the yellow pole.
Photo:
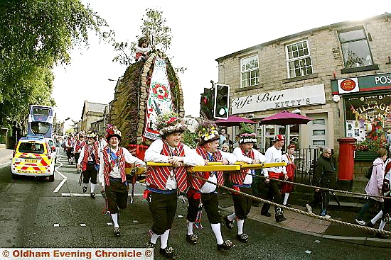
M 171 149 L 175 149 L 175 147 L 170 147 Z M 149 145 L 148 149 L 145 151 L 144 159 L 146 162 L 168 162 L 168 157 L 166 155 L 161 154 L 161 150 L 163 149 L 163 141 L 161 139 L 154 140 L 154 142 Z M 185 152 L 185 156 L 183 157 L 184 165 L 205 165 L 203 157 L 200 156 L 195 149 L 191 149 L 187 145 L 183 145 L 183 150 Z M 173 174 L 173 173 L 171 173 Z M 176 188 L 177 183 L 176 179 L 168 178 L 166 183 L 166 188 L 168 190 Z

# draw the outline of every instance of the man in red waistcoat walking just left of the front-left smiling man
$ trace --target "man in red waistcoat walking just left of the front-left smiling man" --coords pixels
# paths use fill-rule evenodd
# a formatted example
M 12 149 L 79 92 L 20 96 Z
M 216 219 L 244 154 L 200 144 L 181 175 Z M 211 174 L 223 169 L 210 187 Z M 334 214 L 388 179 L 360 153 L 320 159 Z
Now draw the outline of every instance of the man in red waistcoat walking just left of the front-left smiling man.
M 91 198 L 95 198 L 95 186 L 97 185 L 97 167 L 100 164 L 98 147 L 95 145 L 95 132 L 87 133 L 87 145 L 82 147 L 79 161 L 77 162 L 77 170 L 82 169 L 82 192 L 85 193 L 88 188 L 88 183 L 91 181 Z

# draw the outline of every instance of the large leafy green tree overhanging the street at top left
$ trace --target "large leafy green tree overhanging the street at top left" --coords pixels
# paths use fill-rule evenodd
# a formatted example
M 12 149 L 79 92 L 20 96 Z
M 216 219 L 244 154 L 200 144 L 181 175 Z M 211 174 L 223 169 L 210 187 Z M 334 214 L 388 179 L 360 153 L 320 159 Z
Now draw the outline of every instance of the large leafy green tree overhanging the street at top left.
M 55 64 L 88 46 L 88 33 L 113 40 L 107 22 L 80 0 L 2 0 L 0 3 L 0 125 L 21 122 L 33 103 L 54 105 Z

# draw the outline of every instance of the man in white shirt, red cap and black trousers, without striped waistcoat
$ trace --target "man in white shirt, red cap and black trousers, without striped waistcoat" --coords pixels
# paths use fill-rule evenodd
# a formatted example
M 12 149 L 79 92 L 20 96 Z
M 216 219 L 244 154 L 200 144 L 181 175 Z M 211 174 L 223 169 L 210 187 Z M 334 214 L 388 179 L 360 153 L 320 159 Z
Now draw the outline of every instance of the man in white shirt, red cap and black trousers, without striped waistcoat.
M 285 137 L 284 135 L 275 135 L 273 139 L 273 145 L 267 148 L 264 156 L 266 157 L 266 162 L 282 162 L 282 147 L 284 146 Z M 263 169 L 265 182 L 267 183 L 268 191 L 267 191 L 267 200 L 274 200 L 274 203 L 282 204 L 282 196 L 281 191 L 279 189 L 279 181 L 275 181 L 274 179 L 279 179 L 280 174 L 284 174 L 284 180 L 288 179 L 286 175 L 285 166 L 279 167 L 271 167 Z M 264 203 L 261 209 L 261 215 L 265 215 L 270 217 L 269 213 L 270 204 Z M 284 217 L 284 210 L 281 207 L 274 206 L 274 213 L 276 222 L 282 222 L 286 220 Z

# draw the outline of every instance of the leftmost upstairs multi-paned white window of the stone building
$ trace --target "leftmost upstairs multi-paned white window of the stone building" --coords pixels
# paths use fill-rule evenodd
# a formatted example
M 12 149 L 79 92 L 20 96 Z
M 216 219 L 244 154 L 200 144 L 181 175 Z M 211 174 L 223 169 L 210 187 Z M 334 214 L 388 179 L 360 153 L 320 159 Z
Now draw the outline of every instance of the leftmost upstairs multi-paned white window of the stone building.
M 259 84 L 258 55 L 245 57 L 240 60 L 240 86 L 256 86 Z

